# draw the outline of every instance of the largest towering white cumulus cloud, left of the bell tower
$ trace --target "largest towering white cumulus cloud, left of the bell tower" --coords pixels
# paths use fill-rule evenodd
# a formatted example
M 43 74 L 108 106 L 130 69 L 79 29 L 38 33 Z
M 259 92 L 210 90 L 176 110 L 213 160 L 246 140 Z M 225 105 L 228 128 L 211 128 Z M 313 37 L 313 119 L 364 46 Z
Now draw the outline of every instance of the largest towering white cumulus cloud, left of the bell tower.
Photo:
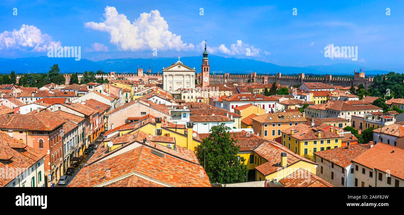
M 193 49 L 195 46 L 181 40 L 180 35 L 168 30 L 167 21 L 158 10 L 141 13 L 132 23 L 124 14 L 118 14 L 115 7 L 105 7 L 105 21 L 84 23 L 84 27 L 107 32 L 110 42 L 123 51 L 144 51 L 174 49 L 177 51 Z

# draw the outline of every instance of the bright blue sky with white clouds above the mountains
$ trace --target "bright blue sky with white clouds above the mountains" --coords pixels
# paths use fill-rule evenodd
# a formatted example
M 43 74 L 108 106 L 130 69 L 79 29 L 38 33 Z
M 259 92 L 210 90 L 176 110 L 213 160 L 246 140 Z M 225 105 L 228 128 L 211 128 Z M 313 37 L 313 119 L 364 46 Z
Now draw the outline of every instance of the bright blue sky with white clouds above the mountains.
M 5 1 L 0 57 L 46 56 L 55 42 L 81 46 L 81 58 L 93 61 L 197 56 L 207 40 L 209 53 L 223 57 L 395 70 L 404 67 L 401 8 L 402 1 Z M 358 60 L 324 57 L 329 44 L 358 46 Z

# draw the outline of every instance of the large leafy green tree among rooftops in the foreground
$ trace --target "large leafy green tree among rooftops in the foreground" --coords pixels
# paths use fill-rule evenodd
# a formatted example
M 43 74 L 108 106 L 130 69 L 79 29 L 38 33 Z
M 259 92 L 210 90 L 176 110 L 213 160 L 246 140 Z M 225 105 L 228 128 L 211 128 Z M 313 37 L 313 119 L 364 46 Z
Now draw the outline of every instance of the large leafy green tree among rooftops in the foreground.
M 224 124 L 212 126 L 197 148 L 196 156 L 212 183 L 242 182 L 248 172 L 245 159 L 237 158 L 240 146 L 229 130 Z

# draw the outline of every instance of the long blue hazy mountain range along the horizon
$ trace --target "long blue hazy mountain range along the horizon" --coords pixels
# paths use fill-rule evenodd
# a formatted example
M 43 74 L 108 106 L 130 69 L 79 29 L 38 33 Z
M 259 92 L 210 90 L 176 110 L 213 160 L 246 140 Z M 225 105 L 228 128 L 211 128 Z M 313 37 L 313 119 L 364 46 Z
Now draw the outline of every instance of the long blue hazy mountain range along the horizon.
M 195 57 L 181 57 L 181 61 L 189 67 L 195 67 L 200 71 L 202 56 Z M 75 61 L 74 58 L 49 58 L 49 57 L 26 57 L 17 59 L 0 58 L 0 73 L 10 73 L 14 70 L 16 73 L 40 73 L 48 72 L 49 67 L 57 63 L 62 73 L 73 73 L 84 71 L 97 71 L 104 72 L 136 72 L 138 67 L 147 70 L 149 67 L 153 73 L 162 70 L 172 63 L 177 62 L 176 57 L 156 57 L 149 59 L 142 58 L 119 58 L 119 59 L 106 59 L 104 61 L 90 61 L 81 59 Z M 210 71 L 216 74 L 229 73 L 249 73 L 257 72 L 257 74 L 353 74 L 353 70 L 358 70 L 360 65 L 356 64 L 343 64 L 337 63 L 333 65 L 315 65 L 307 67 L 289 67 L 278 66 L 273 63 L 265 63 L 263 61 L 256 61 L 253 59 L 238 59 L 234 57 L 219 57 L 216 55 L 209 55 Z M 382 70 L 367 70 L 366 75 L 383 74 L 387 71 Z

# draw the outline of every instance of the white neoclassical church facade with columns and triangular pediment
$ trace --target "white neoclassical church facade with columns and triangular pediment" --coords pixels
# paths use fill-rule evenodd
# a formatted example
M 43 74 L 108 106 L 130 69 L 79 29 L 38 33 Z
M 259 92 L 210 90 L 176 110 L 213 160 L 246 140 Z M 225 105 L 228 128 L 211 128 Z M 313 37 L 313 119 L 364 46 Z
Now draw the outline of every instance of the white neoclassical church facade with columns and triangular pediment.
M 175 91 L 181 88 L 195 88 L 195 68 L 184 65 L 181 61 L 162 69 L 163 89 Z

